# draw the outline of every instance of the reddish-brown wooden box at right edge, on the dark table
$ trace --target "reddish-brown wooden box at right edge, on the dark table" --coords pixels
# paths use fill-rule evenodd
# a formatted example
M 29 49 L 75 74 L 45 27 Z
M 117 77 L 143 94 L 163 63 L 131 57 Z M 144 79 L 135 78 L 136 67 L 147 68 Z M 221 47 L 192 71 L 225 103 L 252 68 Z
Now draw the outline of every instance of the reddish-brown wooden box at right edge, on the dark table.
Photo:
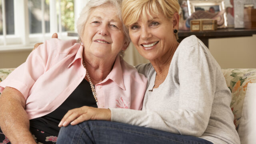
M 244 9 L 244 28 L 256 28 L 256 9 Z

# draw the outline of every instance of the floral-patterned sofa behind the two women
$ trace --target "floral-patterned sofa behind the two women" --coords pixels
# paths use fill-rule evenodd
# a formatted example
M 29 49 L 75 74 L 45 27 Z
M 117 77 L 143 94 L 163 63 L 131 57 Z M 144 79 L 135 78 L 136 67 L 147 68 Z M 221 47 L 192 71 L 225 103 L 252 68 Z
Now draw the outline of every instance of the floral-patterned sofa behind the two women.
M 15 68 L 0 69 L 0 82 Z M 256 83 L 256 69 L 222 69 L 226 84 L 232 93 L 230 108 L 234 114 L 234 125 L 239 131 L 244 98 L 249 83 Z M 241 138 L 241 137 L 240 137 Z

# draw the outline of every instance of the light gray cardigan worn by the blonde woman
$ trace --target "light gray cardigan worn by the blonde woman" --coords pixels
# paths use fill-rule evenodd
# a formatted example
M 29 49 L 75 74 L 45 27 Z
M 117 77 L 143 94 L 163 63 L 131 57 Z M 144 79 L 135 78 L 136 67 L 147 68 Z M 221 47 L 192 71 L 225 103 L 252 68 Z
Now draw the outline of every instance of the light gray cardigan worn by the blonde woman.
M 240 144 L 230 109 L 231 93 L 220 66 L 204 44 L 190 36 L 178 46 L 168 75 L 154 87 L 153 66 L 137 66 L 148 77 L 142 110 L 110 108 L 111 121 L 204 138 L 214 144 Z

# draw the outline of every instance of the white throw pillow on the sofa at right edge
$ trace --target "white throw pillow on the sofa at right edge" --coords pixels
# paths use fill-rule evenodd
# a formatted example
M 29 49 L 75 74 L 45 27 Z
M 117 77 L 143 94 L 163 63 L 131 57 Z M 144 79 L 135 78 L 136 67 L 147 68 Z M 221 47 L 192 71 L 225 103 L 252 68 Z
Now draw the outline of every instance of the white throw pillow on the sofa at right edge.
M 241 144 L 255 144 L 256 134 L 256 83 L 249 83 L 244 98 L 238 134 Z

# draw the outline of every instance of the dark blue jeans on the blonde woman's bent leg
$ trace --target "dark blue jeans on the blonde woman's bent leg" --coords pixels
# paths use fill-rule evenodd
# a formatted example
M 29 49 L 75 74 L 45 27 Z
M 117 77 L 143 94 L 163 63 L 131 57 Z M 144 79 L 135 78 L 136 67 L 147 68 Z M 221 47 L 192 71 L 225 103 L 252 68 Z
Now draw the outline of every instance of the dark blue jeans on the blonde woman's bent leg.
M 202 138 L 172 134 L 118 122 L 91 120 L 62 127 L 57 144 L 212 144 Z

